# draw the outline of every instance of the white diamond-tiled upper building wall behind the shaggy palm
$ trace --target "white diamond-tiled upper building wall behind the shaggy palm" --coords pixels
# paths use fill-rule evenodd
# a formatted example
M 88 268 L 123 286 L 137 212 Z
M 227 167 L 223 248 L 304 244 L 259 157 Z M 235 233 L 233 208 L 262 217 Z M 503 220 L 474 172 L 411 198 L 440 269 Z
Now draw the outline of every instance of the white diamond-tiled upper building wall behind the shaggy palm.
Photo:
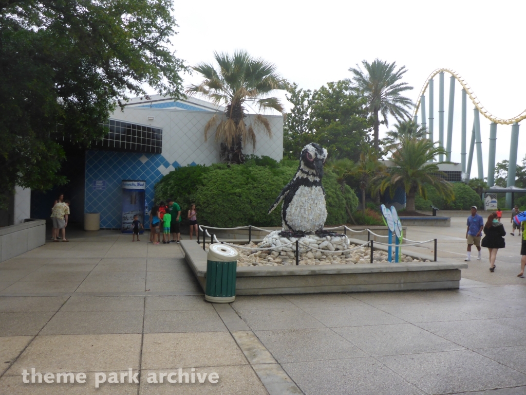
M 214 116 L 211 111 L 188 111 L 164 108 L 145 108 L 127 106 L 120 108 L 110 117 L 116 121 L 126 121 L 139 125 L 148 125 L 163 129 L 163 156 L 170 163 L 177 162 L 180 166 L 191 163 L 210 165 L 219 162 L 219 143 L 215 142 L 215 129 L 208 135 L 205 142 L 205 125 Z M 221 113 L 217 113 L 221 115 Z M 148 119 L 153 117 L 153 120 Z M 245 122 L 253 125 L 256 133 L 256 150 L 251 144 L 246 144 L 243 152 L 258 156 L 266 155 L 280 161 L 283 157 L 283 117 L 281 115 L 266 116 L 272 131 L 269 137 L 260 126 L 253 124 L 254 115 L 248 115 Z M 174 170 L 159 169 L 167 174 Z

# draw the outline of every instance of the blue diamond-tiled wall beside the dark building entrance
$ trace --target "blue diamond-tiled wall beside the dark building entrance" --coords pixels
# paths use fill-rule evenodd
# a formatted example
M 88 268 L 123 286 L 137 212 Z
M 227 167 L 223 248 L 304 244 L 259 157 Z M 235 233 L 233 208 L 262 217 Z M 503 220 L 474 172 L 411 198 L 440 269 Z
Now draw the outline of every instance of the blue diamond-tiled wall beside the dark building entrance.
M 142 160 L 141 160 L 142 159 Z M 143 163 L 144 162 L 144 163 Z M 154 185 L 163 174 L 160 165 L 169 166 L 161 154 L 86 151 L 85 213 L 100 213 L 100 228 L 120 229 L 122 222 L 122 180 L 146 180 L 146 202 L 153 205 Z M 106 189 L 93 190 L 94 180 L 106 181 Z M 149 228 L 148 217 L 145 228 Z

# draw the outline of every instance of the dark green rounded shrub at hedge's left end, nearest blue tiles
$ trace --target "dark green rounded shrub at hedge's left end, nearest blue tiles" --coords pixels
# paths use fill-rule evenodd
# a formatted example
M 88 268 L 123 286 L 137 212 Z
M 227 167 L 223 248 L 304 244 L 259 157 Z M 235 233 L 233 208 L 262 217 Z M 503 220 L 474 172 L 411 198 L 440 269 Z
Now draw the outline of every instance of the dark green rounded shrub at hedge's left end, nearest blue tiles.
M 203 174 L 210 170 L 210 166 L 197 165 L 178 167 L 169 172 L 155 185 L 155 201 L 174 199 L 181 206 L 182 212 L 194 203 L 195 193 L 203 185 Z

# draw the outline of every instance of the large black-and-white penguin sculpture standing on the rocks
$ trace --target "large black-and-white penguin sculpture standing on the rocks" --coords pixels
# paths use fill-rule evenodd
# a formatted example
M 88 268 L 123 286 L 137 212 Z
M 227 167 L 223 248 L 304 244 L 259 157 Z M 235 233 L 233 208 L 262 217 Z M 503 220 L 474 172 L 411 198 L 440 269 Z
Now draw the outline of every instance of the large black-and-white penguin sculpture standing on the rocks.
M 307 144 L 301 152 L 296 175 L 279 194 L 269 214 L 283 201 L 281 219 L 284 231 L 320 231 L 327 219 L 325 190 L 321 185 L 327 150 L 319 144 Z

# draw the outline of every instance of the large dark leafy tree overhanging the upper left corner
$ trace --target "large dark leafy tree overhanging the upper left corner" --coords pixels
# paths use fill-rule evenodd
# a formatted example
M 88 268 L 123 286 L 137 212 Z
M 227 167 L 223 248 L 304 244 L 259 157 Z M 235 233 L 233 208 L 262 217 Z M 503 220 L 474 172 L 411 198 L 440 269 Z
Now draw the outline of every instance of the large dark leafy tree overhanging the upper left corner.
M 64 183 L 59 141 L 102 136 L 116 99 L 146 84 L 178 97 L 172 12 L 170 0 L 0 1 L 0 199 Z

